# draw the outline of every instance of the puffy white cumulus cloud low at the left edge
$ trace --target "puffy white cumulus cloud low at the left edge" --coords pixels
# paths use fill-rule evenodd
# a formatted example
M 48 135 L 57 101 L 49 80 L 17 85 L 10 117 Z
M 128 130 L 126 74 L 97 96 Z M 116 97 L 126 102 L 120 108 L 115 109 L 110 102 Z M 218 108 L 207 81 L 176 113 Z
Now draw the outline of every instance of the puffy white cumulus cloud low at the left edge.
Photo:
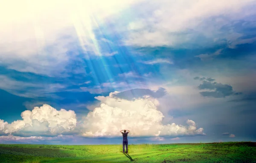
M 76 114 L 72 110 L 56 110 L 44 104 L 32 111 L 21 113 L 23 120 L 6 123 L 0 120 L 0 132 L 15 136 L 57 136 L 59 134 L 74 134 L 76 131 Z

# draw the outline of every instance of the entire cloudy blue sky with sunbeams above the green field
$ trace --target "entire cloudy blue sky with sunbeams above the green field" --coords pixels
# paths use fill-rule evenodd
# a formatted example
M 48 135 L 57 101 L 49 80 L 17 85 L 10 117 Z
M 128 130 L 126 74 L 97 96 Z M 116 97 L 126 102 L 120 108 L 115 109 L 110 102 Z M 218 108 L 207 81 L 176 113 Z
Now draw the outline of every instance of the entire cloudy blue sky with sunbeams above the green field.
M 256 141 L 256 0 L 3 0 L 0 143 Z

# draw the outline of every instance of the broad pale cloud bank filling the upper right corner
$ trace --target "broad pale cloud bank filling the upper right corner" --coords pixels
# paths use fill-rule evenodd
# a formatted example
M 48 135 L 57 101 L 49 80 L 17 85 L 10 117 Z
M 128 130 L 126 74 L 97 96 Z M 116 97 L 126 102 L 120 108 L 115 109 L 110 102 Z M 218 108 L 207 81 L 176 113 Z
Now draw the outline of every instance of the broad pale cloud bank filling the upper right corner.
M 204 36 L 204 43 L 227 41 L 235 46 L 241 36 L 231 29 L 221 33 L 224 25 L 255 14 L 250 6 L 254 0 L 152 0 L 138 6 L 138 16 L 127 26 L 127 45 L 134 46 L 178 46 L 182 43 L 197 43 L 197 38 Z M 248 7 L 247 7 L 248 6 Z M 246 8 L 247 7 L 247 8 Z M 244 12 L 246 11 L 246 12 Z M 214 18 L 216 16 L 221 16 Z M 207 20 L 207 18 L 210 18 Z M 240 36 L 239 36 L 240 35 Z M 240 41 L 252 42 L 253 39 Z M 234 44 L 234 45 L 233 45 Z

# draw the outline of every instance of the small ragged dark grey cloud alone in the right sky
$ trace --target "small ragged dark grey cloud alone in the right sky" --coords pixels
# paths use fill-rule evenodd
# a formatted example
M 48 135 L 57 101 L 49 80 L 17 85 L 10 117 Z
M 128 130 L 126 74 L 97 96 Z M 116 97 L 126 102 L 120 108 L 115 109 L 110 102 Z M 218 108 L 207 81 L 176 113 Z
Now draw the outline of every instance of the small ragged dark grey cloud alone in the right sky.
M 198 79 L 198 78 L 196 77 L 196 79 Z M 204 97 L 224 98 L 224 97 L 230 96 L 230 95 L 241 94 L 241 92 L 235 92 L 233 90 L 233 87 L 228 84 L 210 82 L 210 81 L 214 81 L 214 79 L 212 79 L 212 78 L 208 78 L 206 80 L 205 80 L 205 78 L 200 78 L 200 80 L 201 79 L 203 79 L 203 83 L 198 86 L 198 89 L 199 90 L 202 90 L 202 89 L 212 90 L 212 91 L 200 92 L 200 94 Z

